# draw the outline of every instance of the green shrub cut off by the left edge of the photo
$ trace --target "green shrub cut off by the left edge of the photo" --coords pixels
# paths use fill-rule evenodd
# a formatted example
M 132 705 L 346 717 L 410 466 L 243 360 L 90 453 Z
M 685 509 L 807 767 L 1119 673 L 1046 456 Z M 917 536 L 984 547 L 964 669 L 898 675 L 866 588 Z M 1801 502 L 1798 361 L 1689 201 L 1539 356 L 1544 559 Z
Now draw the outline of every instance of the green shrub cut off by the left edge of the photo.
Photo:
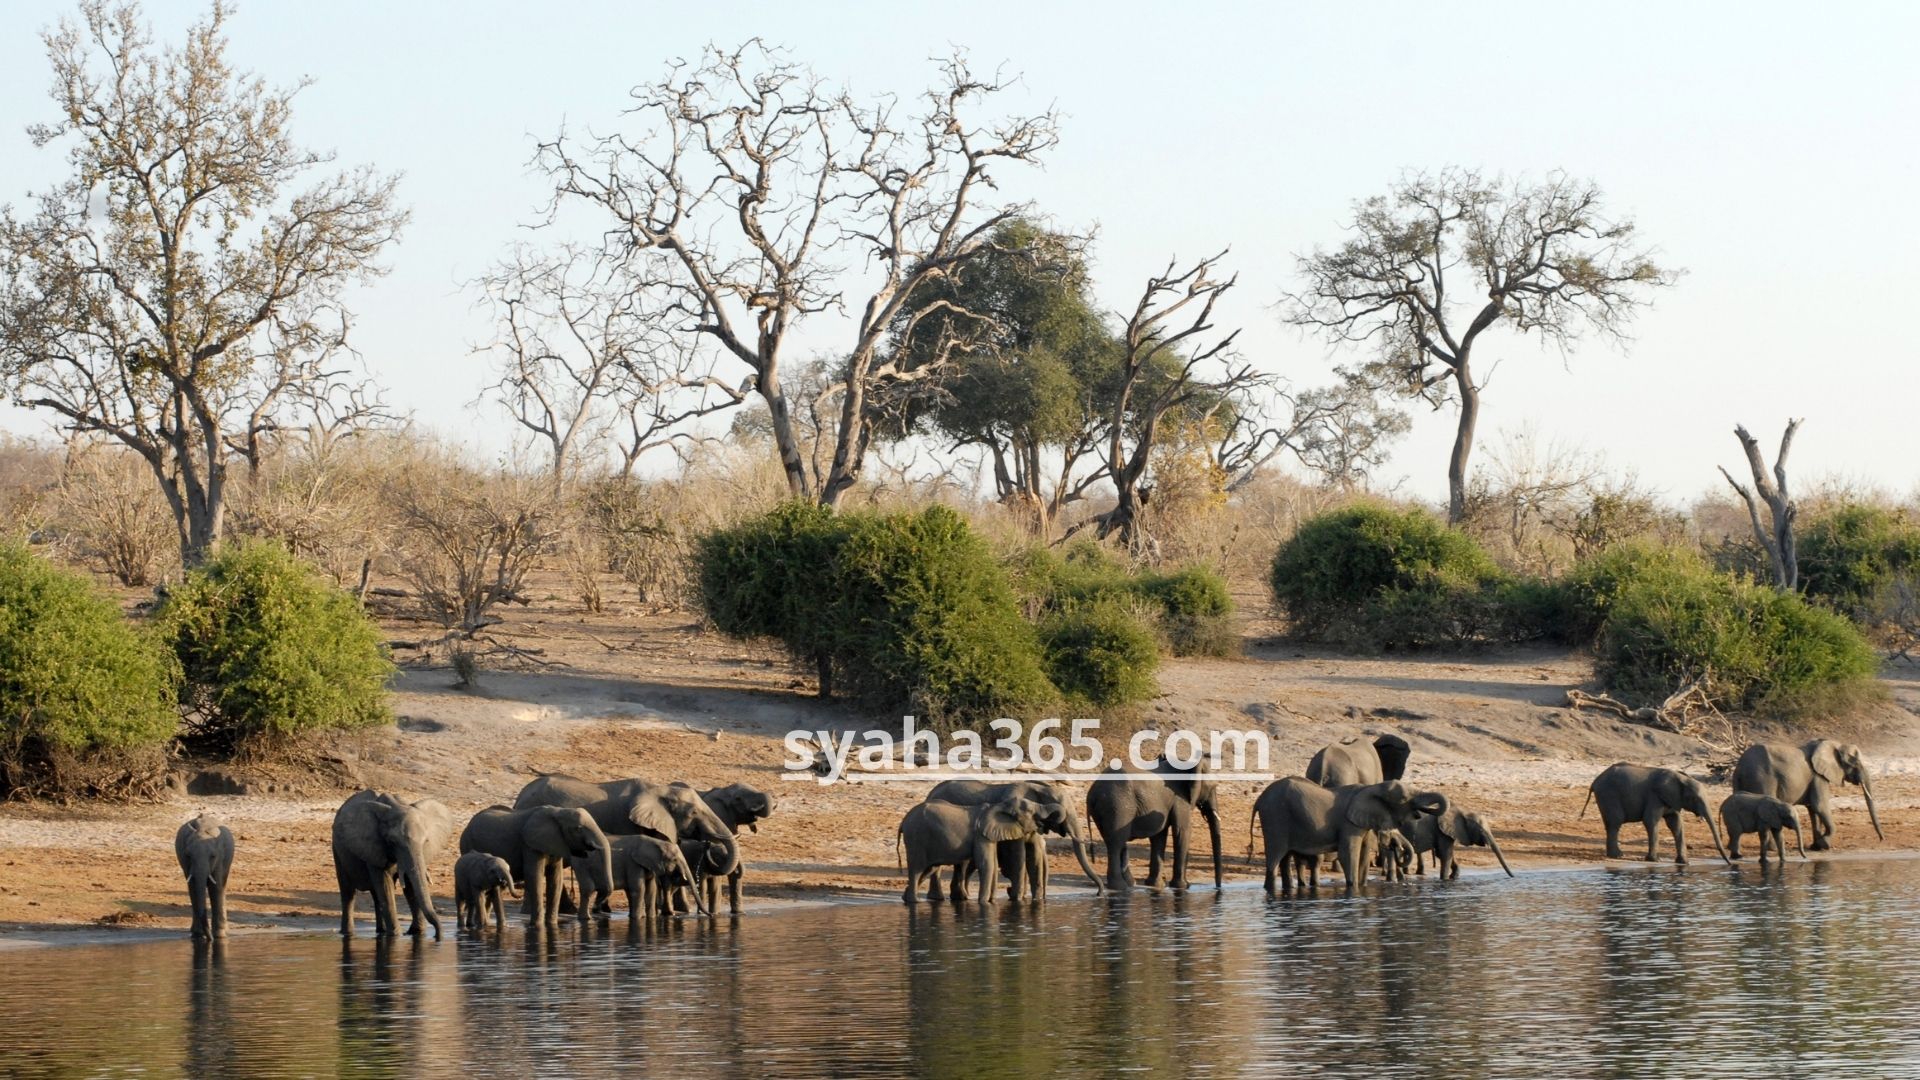
M 61 786 L 75 755 L 157 748 L 177 669 L 86 578 L 0 544 L 0 794 Z

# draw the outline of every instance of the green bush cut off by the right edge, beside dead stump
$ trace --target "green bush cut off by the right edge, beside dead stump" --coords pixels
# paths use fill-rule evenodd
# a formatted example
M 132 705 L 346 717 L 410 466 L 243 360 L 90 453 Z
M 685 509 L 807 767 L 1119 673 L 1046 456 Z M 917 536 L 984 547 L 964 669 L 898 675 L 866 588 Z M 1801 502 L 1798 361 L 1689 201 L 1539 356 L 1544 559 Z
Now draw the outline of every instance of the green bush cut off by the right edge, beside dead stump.
M 1895 578 L 1920 569 L 1920 525 L 1907 513 L 1845 503 L 1801 525 L 1801 590 L 1857 621 Z

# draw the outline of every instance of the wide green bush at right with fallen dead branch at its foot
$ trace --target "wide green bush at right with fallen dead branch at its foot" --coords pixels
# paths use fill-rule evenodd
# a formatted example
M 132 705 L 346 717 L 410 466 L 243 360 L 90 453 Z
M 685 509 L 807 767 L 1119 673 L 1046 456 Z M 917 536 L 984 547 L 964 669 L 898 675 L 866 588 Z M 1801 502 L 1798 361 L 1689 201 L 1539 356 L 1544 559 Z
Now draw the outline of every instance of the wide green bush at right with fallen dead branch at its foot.
M 1596 653 L 1601 682 L 1630 701 L 1699 680 L 1726 709 L 1805 713 L 1872 688 L 1878 653 L 1832 611 L 1697 559 L 1620 565 L 1632 569 L 1607 594 Z

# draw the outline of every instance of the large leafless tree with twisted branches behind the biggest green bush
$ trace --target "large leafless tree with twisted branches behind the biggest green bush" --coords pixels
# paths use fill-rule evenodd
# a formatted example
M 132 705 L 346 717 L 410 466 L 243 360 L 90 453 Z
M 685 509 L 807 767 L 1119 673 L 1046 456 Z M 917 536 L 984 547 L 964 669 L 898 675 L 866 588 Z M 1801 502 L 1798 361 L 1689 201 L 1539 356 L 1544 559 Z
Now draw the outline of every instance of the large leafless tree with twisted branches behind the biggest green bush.
M 872 419 L 927 384 L 939 357 L 902 367 L 881 346 L 922 282 L 952 273 L 1020 206 L 977 208 L 1002 161 L 1033 161 L 1054 144 L 1052 113 L 977 125 L 972 110 L 1006 88 L 966 60 L 912 117 L 891 98 L 856 102 L 780 50 L 751 40 L 674 63 L 637 86 L 637 135 L 541 144 L 553 213 L 584 202 L 612 217 L 611 254 L 660 296 L 674 332 L 712 342 L 747 367 L 768 409 L 787 488 L 835 505 L 858 482 Z M 862 263 L 851 300 L 843 259 Z M 831 463 L 810 469 L 795 438 L 781 350 L 795 325 L 852 307 L 839 352 L 841 411 Z

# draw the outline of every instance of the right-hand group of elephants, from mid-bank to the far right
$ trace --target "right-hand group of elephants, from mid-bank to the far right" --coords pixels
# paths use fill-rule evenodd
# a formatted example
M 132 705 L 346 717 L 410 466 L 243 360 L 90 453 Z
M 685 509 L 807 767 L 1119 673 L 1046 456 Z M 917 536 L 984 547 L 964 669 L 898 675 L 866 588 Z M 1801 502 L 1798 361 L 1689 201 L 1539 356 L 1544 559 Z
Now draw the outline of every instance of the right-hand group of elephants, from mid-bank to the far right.
M 1321 748 L 1304 776 L 1269 784 L 1254 801 L 1248 822 L 1265 838 L 1265 890 L 1292 894 L 1319 888 L 1325 857 L 1332 857 L 1348 894 L 1367 882 L 1373 867 L 1388 878 L 1409 871 L 1425 872 L 1432 855 L 1442 880 L 1459 876 L 1457 847 L 1488 847 L 1501 871 L 1513 876 L 1492 824 L 1478 813 L 1455 805 L 1438 792 L 1417 792 L 1404 780 L 1411 748 L 1394 734 L 1348 738 Z M 1715 849 L 1728 861 L 1740 857 L 1745 834 L 1761 838 L 1761 861 L 1778 853 L 1786 861 L 1784 832 L 1801 846 L 1793 805 L 1805 805 L 1812 819 L 1812 847 L 1832 846 L 1832 796 L 1839 784 L 1857 784 L 1866 796 L 1866 811 L 1880 832 L 1872 780 L 1860 749 L 1832 740 L 1812 740 L 1793 748 L 1755 744 L 1734 769 L 1734 794 L 1718 807 L 1726 824 L 1726 846 L 1699 780 L 1674 769 L 1619 763 L 1588 786 L 1588 805 L 1599 807 L 1609 859 L 1620 857 L 1620 826 L 1642 822 L 1647 830 L 1647 861 L 1657 857 L 1659 826 L 1674 840 L 1674 857 L 1686 863 L 1686 836 L 1680 817 L 1697 815 L 1707 822 Z M 1152 771 L 1104 776 L 1087 790 L 1087 819 L 1106 846 L 1106 876 L 1094 874 L 1087 838 L 1071 807 L 1046 780 L 991 784 L 947 780 L 925 801 L 912 807 L 897 828 L 906 869 L 900 899 L 914 903 L 922 888 L 927 899 L 941 899 L 939 871 L 952 869 L 947 896 L 966 899 L 968 880 L 979 874 L 979 897 L 993 903 L 996 880 L 1008 882 L 1008 896 L 1043 899 L 1046 894 L 1046 836 L 1066 836 L 1096 892 L 1125 892 L 1133 886 L 1127 846 L 1148 846 L 1146 884 L 1158 886 L 1167 840 L 1173 842 L 1169 884 L 1188 886 L 1192 815 L 1208 822 L 1213 851 L 1213 886 L 1223 880 L 1217 784 L 1204 769 L 1183 769 L 1165 759 Z M 1582 805 L 1580 815 L 1586 815 Z M 1801 846 L 1805 857 L 1805 846 Z

